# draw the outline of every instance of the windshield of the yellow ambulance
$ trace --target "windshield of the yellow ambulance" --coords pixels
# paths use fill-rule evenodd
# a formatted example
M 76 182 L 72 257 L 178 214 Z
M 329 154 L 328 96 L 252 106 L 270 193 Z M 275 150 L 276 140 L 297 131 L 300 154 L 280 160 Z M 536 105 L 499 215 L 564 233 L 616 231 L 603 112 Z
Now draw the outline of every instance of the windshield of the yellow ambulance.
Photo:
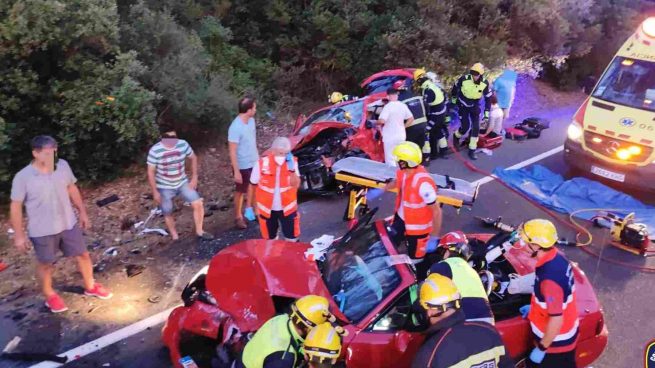
M 608 102 L 655 111 L 655 63 L 615 57 L 593 96 Z

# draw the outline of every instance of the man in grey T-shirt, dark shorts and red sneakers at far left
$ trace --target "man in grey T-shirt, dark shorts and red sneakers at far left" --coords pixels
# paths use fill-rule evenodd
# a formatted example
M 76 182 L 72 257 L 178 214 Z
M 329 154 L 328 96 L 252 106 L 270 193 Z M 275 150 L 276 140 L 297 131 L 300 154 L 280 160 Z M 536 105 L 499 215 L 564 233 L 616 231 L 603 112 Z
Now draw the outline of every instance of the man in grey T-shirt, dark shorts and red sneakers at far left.
M 23 252 L 29 250 L 23 230 L 23 205 L 27 211 L 27 233 L 36 253 L 37 274 L 45 305 L 54 313 L 68 310 L 52 288 L 53 264 L 57 250 L 75 257 L 84 280 L 84 294 L 109 299 L 111 292 L 93 279 L 93 264 L 86 250 L 82 229 L 91 226 L 84 208 L 77 179 L 64 160 L 57 159 L 57 142 L 50 136 L 32 139 L 34 160 L 19 171 L 11 186 L 10 217 L 15 230 L 14 243 Z M 72 204 L 79 212 L 79 224 Z

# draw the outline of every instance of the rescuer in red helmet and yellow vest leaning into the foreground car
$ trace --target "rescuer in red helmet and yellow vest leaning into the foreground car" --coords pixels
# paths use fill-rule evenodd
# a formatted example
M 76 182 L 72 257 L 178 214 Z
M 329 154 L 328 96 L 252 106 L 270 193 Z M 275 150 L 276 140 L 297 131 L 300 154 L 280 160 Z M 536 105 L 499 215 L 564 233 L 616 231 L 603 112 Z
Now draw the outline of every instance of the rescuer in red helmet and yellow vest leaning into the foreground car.
M 439 253 L 443 255 L 443 261 L 432 265 L 430 274 L 437 273 L 453 280 L 462 295 L 462 309 L 467 321 L 493 325 L 494 315 L 482 280 L 467 263 L 472 252 L 466 235 L 461 231 L 445 234 L 439 239 Z

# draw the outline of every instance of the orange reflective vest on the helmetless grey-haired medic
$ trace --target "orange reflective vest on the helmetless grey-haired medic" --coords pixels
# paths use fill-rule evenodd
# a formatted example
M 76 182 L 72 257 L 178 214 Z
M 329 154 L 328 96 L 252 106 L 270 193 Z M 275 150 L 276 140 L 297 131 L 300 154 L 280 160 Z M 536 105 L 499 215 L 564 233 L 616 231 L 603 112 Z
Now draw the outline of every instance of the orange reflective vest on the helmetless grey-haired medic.
M 294 157 L 293 167 L 297 170 L 298 161 Z M 278 167 L 280 168 L 280 177 L 276 180 L 276 173 Z M 273 155 L 264 156 L 259 159 L 259 172 L 260 179 L 255 190 L 255 199 L 257 200 L 257 209 L 259 214 L 265 218 L 271 217 L 271 208 L 273 207 L 273 199 L 275 195 L 275 187 L 279 186 L 280 199 L 282 200 L 282 211 L 285 216 L 292 214 L 298 210 L 298 190 L 295 186 L 291 185 L 291 176 L 296 175 L 293 171 L 289 170 L 289 165 L 283 162 L 278 165 L 275 162 Z

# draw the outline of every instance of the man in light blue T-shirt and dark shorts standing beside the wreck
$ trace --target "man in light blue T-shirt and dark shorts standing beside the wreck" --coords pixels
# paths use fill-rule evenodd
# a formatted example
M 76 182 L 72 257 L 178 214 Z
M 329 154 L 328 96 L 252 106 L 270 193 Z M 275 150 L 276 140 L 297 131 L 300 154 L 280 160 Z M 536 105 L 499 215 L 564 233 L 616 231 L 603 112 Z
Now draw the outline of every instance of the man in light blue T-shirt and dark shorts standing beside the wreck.
M 244 97 L 239 101 L 239 115 L 234 118 L 227 133 L 230 149 L 230 163 L 234 174 L 234 222 L 237 228 L 247 228 L 244 216 L 255 220 L 252 209 L 252 198 L 248 196 L 250 173 L 255 162 L 259 160 L 257 151 L 257 133 L 255 129 L 255 113 L 257 104 L 252 97 Z M 246 209 L 243 213 L 243 197 L 246 197 Z

